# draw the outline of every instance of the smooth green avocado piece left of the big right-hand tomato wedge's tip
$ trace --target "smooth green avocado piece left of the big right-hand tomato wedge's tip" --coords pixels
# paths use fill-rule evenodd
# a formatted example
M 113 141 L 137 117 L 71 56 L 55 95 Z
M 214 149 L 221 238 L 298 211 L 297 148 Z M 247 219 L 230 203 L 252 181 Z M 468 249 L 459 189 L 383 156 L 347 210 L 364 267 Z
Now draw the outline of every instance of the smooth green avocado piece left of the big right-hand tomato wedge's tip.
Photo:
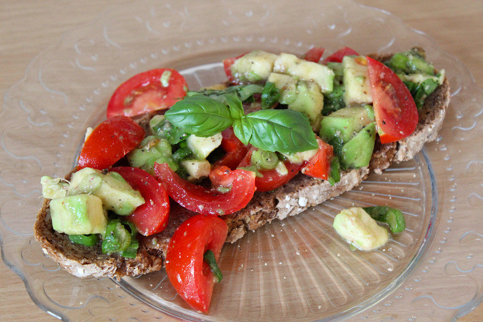
M 376 141 L 375 122 L 366 125 L 341 150 L 341 161 L 344 169 L 369 166 Z

